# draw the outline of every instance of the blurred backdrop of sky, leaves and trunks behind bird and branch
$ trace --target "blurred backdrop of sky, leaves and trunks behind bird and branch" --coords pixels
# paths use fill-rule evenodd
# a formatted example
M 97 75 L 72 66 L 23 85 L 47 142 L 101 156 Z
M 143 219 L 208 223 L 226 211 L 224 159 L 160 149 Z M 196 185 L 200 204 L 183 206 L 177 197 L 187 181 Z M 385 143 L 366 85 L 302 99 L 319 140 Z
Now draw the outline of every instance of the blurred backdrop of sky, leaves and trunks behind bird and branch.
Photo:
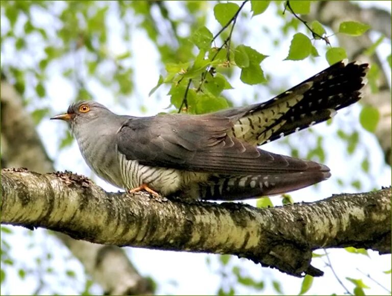
M 170 65 L 186 65 L 198 55 L 190 41 L 196 30 L 206 26 L 216 34 L 222 28 L 214 16 L 217 3 L 2 1 L 2 167 L 39 172 L 66 169 L 91 178 L 107 191 L 117 191 L 92 174 L 67 126 L 49 118 L 65 112 L 76 100 L 89 99 L 118 114 L 176 112 L 173 95 L 168 94 L 170 83 L 149 93 L 160 75 L 167 77 Z M 349 60 L 372 65 L 369 85 L 358 104 L 339 111 L 330 122 L 263 145 L 264 150 L 331 168 L 328 181 L 293 192 L 295 202 L 390 185 L 390 4 L 312 2 L 302 17 L 320 22 L 330 45 L 312 39 L 319 56 L 300 61 L 285 60 L 292 36 L 298 32 L 312 36 L 290 12 L 283 14 L 285 2 L 268 1 L 260 15 L 252 15 L 249 2 L 237 18 L 232 46 L 244 44 L 268 56 L 261 63 L 265 82 L 243 83 L 240 69 L 234 66 L 217 69 L 233 87 L 220 95 L 223 105 L 263 102 L 315 75 L 328 67 L 326 53 L 331 47 L 344 48 Z M 345 20 L 371 28 L 361 36 L 336 33 Z M 215 40 L 217 47 L 229 33 L 230 28 Z M 204 111 L 213 108 L 211 102 Z M 271 202 L 281 205 L 282 198 L 275 196 Z M 316 251 L 313 265 L 325 275 L 306 282 L 229 255 L 109 248 L 108 254 L 124 266 L 113 266 L 114 259 L 96 266 L 93 260 L 102 248 L 43 229 L 2 226 L 1 294 L 256 295 L 299 294 L 304 287 L 310 288 L 309 294 L 347 294 L 361 287 L 366 294 L 380 295 L 391 290 L 390 255 L 353 248 Z M 117 273 L 120 276 L 110 278 Z

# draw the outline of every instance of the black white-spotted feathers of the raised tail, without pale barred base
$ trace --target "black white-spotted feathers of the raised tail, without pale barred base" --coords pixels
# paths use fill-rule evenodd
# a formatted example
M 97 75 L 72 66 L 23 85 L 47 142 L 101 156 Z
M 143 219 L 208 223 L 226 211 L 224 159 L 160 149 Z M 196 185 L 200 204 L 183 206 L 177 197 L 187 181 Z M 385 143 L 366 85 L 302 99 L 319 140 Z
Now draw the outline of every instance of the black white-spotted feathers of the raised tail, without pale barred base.
M 283 120 L 285 124 L 274 130 L 267 139 L 262 140 L 274 141 L 328 120 L 337 110 L 359 101 L 361 89 L 367 82 L 365 78 L 367 70 L 369 70 L 369 64 L 357 62 L 347 64 L 347 60 L 340 61 L 272 100 L 260 104 L 260 110 L 266 110 L 274 108 L 277 104 L 284 104 L 294 94 L 302 93 L 303 95 L 298 104 L 289 108 L 268 129 L 273 129 Z M 306 85 L 310 87 L 303 92 L 302 89 Z M 252 113 L 257 111 L 258 109 L 255 108 Z

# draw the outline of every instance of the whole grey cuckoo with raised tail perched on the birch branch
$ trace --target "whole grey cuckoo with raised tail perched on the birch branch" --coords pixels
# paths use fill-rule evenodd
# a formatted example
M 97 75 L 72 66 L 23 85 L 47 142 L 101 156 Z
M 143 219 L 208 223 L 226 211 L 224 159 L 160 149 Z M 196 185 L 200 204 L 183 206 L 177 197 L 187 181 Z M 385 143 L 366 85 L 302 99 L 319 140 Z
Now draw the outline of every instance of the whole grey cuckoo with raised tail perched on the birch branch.
M 207 114 L 135 117 L 83 101 L 51 119 L 68 122 L 97 176 L 130 193 L 211 201 L 277 195 L 324 181 L 330 169 L 259 146 L 360 100 L 368 69 L 343 60 L 269 101 Z

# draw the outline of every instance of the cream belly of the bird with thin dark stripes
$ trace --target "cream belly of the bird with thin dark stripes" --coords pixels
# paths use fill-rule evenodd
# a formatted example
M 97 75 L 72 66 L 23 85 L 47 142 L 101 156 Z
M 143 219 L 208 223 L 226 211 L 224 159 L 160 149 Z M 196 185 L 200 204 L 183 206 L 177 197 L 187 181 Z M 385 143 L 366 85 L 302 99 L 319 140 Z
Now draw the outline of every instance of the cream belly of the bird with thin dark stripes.
M 119 154 L 122 182 L 127 190 L 148 185 L 162 195 L 178 191 L 182 185 L 181 172 L 177 169 L 139 164 L 137 160 L 127 160 Z

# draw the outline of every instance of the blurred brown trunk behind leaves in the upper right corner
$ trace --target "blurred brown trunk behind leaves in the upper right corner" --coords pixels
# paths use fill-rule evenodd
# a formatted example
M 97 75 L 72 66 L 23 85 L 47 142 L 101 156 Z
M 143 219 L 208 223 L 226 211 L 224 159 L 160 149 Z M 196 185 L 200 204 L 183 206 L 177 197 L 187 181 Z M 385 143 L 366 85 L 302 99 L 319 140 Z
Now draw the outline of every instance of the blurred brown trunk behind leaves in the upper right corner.
M 391 38 L 391 15 L 382 9 L 361 8 L 350 1 L 317 1 L 312 3 L 311 8 L 311 13 L 307 15 L 307 18 L 320 21 L 330 27 L 333 32 L 338 32 L 339 24 L 342 21 L 356 20 L 370 24 L 372 27 L 371 30 L 378 31 L 386 38 Z M 380 69 L 380 75 L 377 81 L 379 91 L 371 93 L 368 85 L 366 87 L 366 93 L 360 102 L 379 110 L 380 121 L 378 122 L 375 135 L 384 152 L 385 162 L 392 165 L 392 105 L 390 100 L 391 92 L 388 85 L 389 78 L 376 53 L 371 56 L 365 55 L 365 50 L 373 45 L 370 32 L 366 32 L 358 37 L 337 33 L 336 37 L 339 45 L 345 48 L 350 60 L 369 62 L 371 65 L 377 65 Z

